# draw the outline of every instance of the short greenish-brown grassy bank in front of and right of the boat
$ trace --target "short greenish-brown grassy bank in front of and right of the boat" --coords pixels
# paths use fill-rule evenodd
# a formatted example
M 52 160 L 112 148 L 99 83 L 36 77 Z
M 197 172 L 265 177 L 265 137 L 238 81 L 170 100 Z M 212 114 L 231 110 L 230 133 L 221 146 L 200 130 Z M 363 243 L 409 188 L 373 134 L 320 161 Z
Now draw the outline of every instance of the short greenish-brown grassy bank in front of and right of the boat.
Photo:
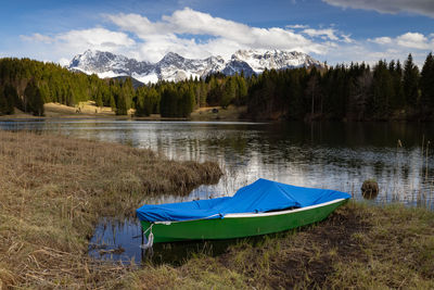
M 217 257 L 149 266 L 141 289 L 434 289 L 434 213 L 349 203 L 298 231 L 244 240 Z

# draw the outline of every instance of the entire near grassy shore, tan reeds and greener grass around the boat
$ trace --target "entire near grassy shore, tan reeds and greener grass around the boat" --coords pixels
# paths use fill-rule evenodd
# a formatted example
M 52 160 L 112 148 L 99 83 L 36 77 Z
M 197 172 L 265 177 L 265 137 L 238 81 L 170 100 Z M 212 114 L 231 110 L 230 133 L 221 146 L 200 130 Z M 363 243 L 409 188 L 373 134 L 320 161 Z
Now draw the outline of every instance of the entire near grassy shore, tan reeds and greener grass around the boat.
M 148 194 L 182 194 L 220 174 L 116 143 L 0 131 L 0 289 L 434 288 L 434 213 L 400 205 L 350 202 L 318 225 L 180 266 L 87 256 L 100 216 L 130 215 Z

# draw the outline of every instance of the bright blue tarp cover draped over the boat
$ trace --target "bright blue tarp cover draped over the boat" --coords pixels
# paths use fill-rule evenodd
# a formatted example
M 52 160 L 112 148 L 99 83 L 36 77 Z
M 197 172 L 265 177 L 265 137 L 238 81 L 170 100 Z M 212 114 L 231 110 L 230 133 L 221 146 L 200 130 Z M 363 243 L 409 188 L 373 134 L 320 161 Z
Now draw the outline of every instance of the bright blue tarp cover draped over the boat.
M 305 207 L 336 199 L 349 199 L 345 192 L 295 187 L 258 179 L 230 198 L 217 198 L 179 203 L 145 204 L 137 216 L 148 222 L 175 222 L 199 218 L 222 218 L 233 213 L 259 213 L 288 207 Z

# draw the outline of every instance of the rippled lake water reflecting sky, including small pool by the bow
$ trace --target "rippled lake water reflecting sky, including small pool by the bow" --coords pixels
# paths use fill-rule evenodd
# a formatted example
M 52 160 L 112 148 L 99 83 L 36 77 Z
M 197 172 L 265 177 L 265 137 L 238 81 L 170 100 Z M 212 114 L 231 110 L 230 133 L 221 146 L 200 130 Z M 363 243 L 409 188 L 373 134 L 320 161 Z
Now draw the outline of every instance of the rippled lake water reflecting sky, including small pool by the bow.
M 431 124 L 31 119 L 2 121 L 0 128 L 48 130 L 120 142 L 150 148 L 175 160 L 216 161 L 224 169 L 217 185 L 202 186 L 189 196 L 144 200 L 149 203 L 232 196 L 257 178 L 347 191 L 360 200 L 362 181 L 374 178 L 380 193 L 372 202 L 433 207 L 434 126 Z M 116 243 L 113 239 L 125 229 L 131 237 L 140 235 L 133 230 L 136 220 L 104 219 L 102 225 L 117 234 L 111 236 L 101 226 L 91 242 L 106 239 L 107 244 Z M 131 238 L 130 242 L 140 244 L 141 239 Z M 141 259 L 128 251 L 123 255 Z

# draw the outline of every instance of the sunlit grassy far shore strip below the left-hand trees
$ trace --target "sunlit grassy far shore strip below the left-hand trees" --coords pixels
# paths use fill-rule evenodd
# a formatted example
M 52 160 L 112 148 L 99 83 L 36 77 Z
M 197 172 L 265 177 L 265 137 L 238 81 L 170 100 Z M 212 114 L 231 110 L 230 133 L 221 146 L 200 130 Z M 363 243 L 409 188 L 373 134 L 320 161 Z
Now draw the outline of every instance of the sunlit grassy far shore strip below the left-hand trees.
M 44 115 L 34 116 L 15 108 L 12 115 L 2 115 L 0 119 L 28 119 L 28 118 L 110 118 L 110 119 L 138 119 L 138 121 L 239 121 L 240 115 L 246 111 L 245 106 L 229 105 L 204 106 L 194 110 L 190 117 L 162 117 L 159 114 L 150 116 L 135 116 L 135 110 L 130 109 L 128 115 L 116 115 L 110 106 L 97 106 L 94 102 L 80 102 L 75 106 L 61 103 L 46 103 Z

